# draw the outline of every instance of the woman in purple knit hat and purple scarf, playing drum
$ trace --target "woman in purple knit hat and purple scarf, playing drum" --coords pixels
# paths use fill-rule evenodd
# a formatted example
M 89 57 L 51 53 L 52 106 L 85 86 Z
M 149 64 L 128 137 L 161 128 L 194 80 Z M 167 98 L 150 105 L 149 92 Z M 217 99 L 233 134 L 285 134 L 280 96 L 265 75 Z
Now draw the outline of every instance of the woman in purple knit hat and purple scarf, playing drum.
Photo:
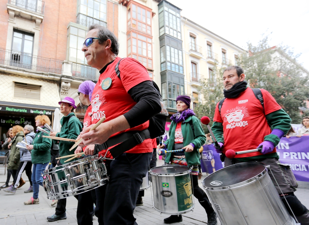
M 207 224 L 216 225 L 217 215 L 212 208 L 206 193 L 198 186 L 198 165 L 201 164 L 198 149 L 206 142 L 205 133 L 202 129 L 200 120 L 190 109 L 191 98 L 180 95 L 176 98 L 177 113 L 171 116 L 171 126 L 169 130 L 170 138 L 160 148 L 167 150 L 184 149 L 183 152 L 167 153 L 166 163 L 188 166 L 192 174 L 192 190 L 201 206 L 207 213 Z M 171 215 L 164 219 L 164 223 L 181 222 L 181 215 Z

